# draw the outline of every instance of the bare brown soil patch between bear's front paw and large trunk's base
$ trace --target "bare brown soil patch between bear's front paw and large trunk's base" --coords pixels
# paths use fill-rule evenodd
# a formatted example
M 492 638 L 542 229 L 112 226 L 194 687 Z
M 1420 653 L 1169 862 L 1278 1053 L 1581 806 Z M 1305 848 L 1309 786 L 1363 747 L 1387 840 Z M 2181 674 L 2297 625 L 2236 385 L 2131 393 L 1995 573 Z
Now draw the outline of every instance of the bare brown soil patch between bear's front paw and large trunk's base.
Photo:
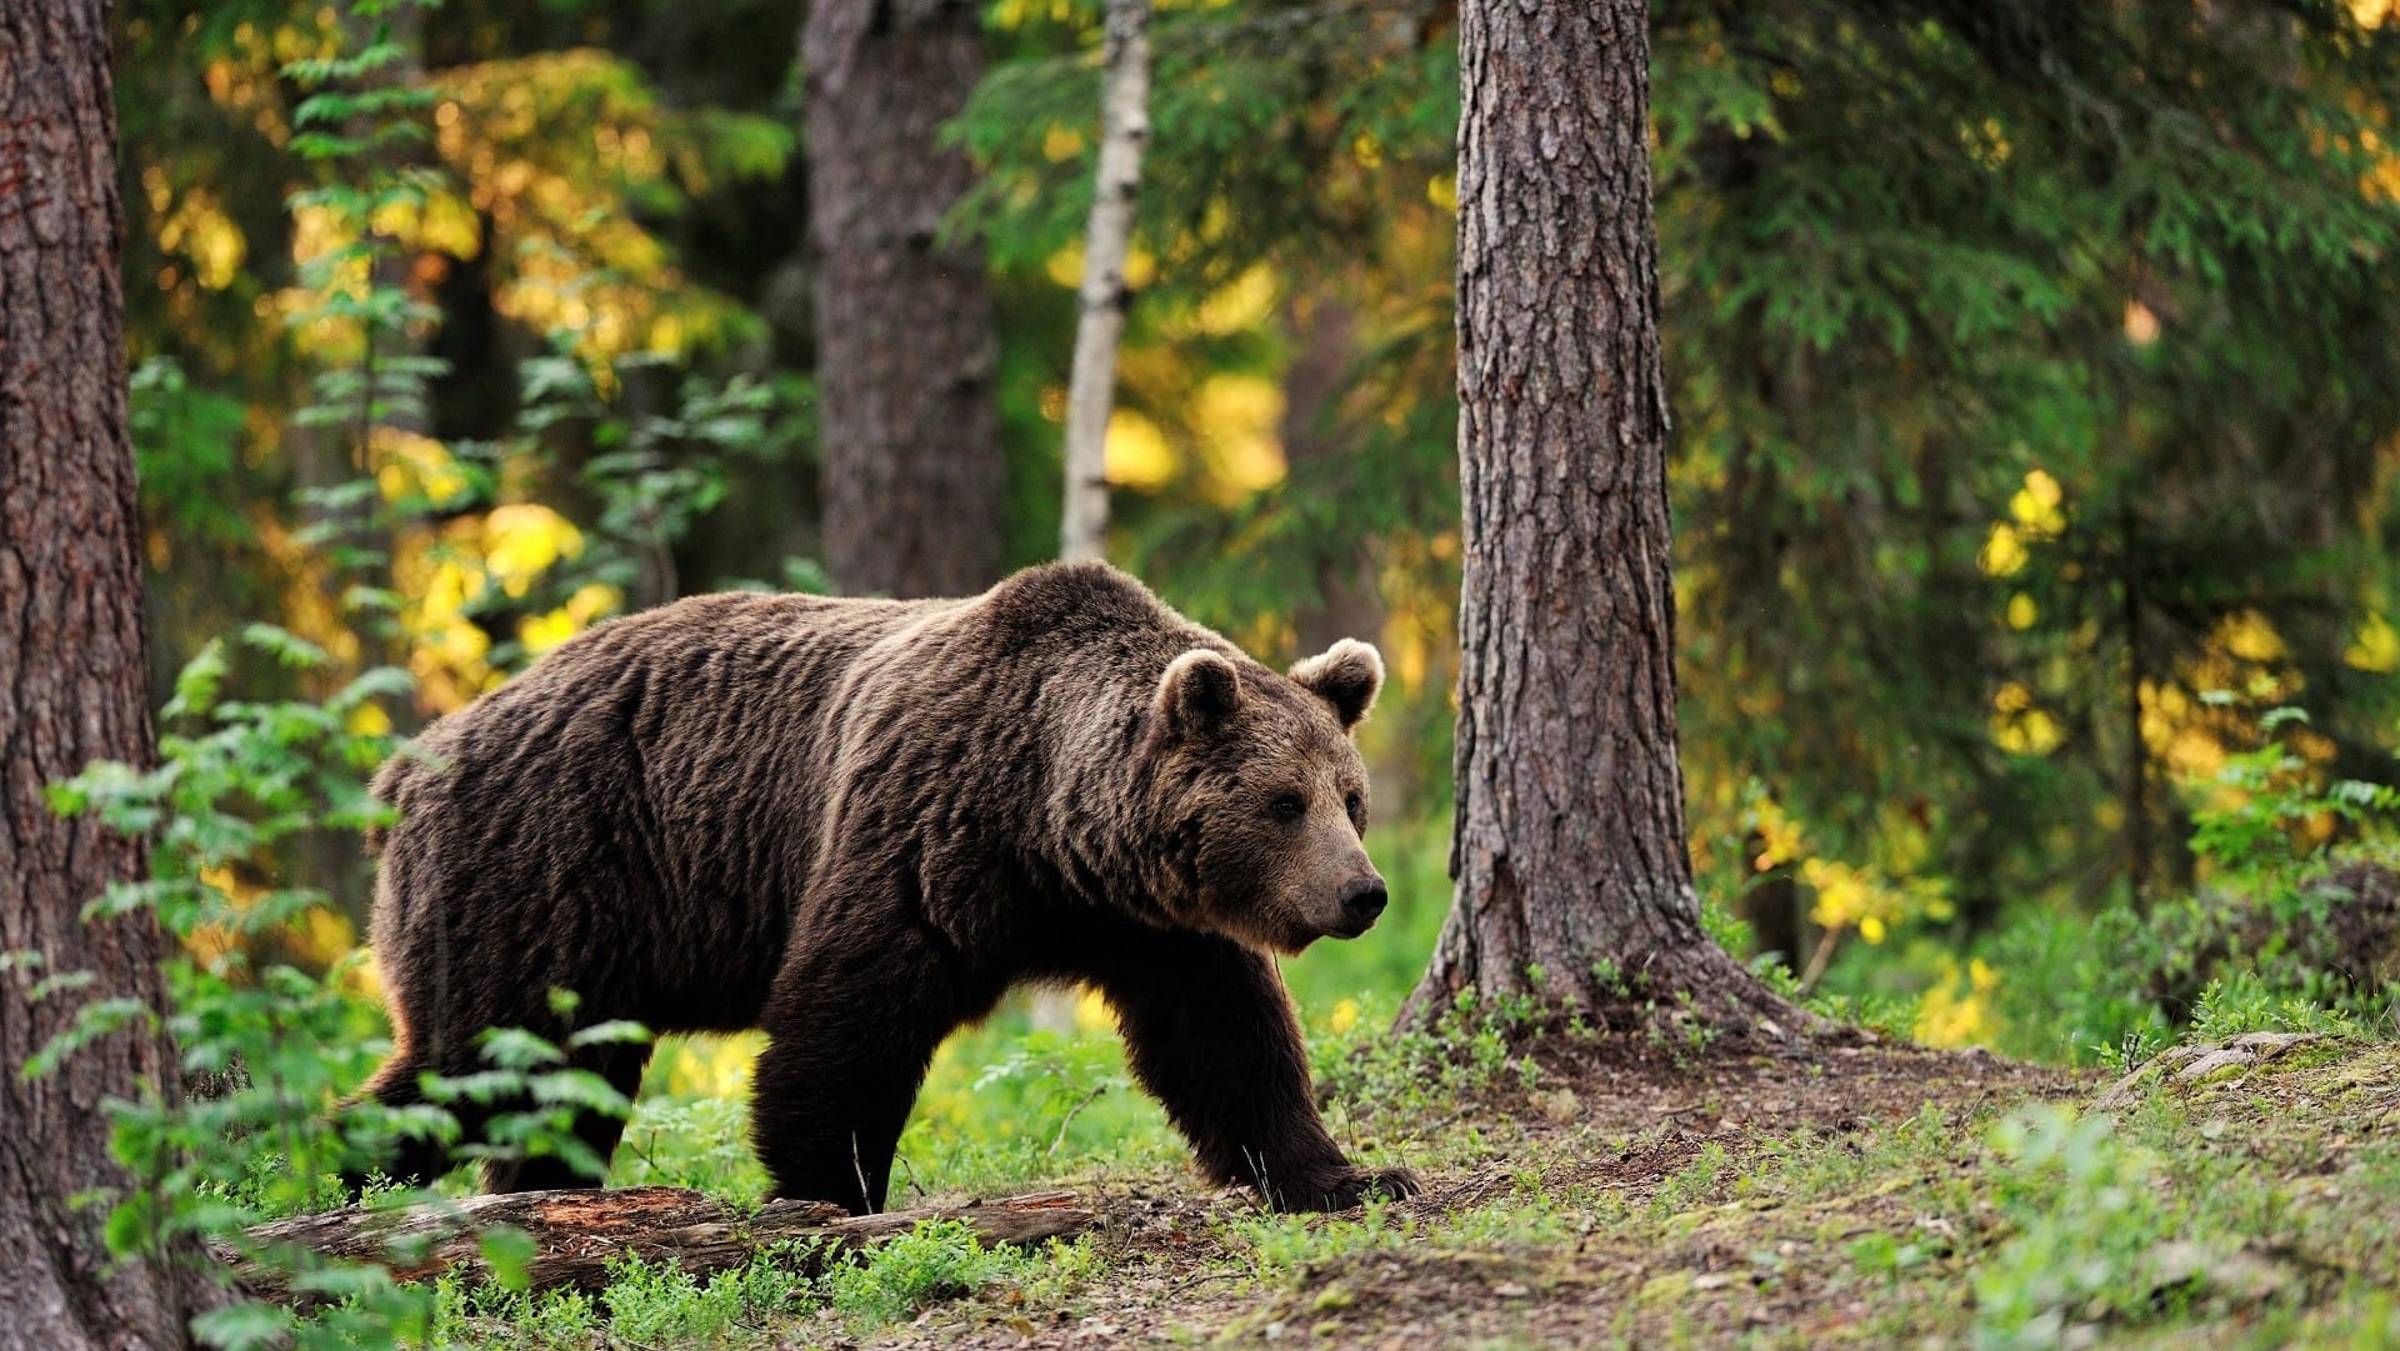
M 1634 1332 L 1738 1334 L 1776 1327 L 1800 1341 L 1812 1329 L 1858 1327 L 1865 1305 L 1829 1301 L 1807 1253 L 1846 1233 L 1906 1229 L 1906 1202 L 1846 1197 L 1838 1214 L 1781 1217 L 1810 1238 L 1781 1238 L 1764 1257 L 1757 1226 L 1704 1217 L 1656 1226 L 1608 1224 L 1649 1207 L 1706 1159 L 1740 1161 L 1769 1147 L 1822 1142 L 1927 1111 L 1966 1123 L 2028 1099 L 2093 1089 L 2100 1080 L 1990 1053 L 1949 1053 L 1884 1041 L 1826 1041 L 1800 1056 L 1678 1058 L 1622 1037 L 1534 1044 L 1543 1073 L 1531 1089 L 1493 1092 L 1438 1130 L 1394 1133 L 1392 1145 L 1426 1181 L 1394 1205 L 1390 1241 L 1330 1243 L 1258 1277 L 1262 1253 L 1243 1231 L 1255 1207 L 1241 1193 L 1202 1193 L 1188 1178 L 1126 1185 L 1078 1183 L 1099 1212 L 1092 1238 L 1104 1272 L 1082 1298 L 1056 1308 L 974 1301 L 926 1313 L 878 1344 L 900 1346 L 1104 1346 L 1126 1341 L 1284 1341 L 1409 1346 L 1502 1339 L 1591 1344 Z M 1961 1140 L 1970 1133 L 1961 1130 Z M 1711 1154 L 1711 1149 L 1716 1154 Z M 1872 1188 L 1870 1188 L 1872 1190 Z M 1546 1238 L 1476 1241 L 1462 1217 L 1570 1197 Z M 1706 1202 L 1706 1197 L 1694 1197 Z M 1582 1219 L 1579 1219 L 1582 1217 Z M 1301 1224 L 1358 1226 L 1358 1217 Z M 1577 1231 L 1582 1229 L 1582 1231 Z M 1334 1229 L 1325 1229 L 1334 1233 Z M 1757 1272 L 1771 1269 L 1771 1281 Z

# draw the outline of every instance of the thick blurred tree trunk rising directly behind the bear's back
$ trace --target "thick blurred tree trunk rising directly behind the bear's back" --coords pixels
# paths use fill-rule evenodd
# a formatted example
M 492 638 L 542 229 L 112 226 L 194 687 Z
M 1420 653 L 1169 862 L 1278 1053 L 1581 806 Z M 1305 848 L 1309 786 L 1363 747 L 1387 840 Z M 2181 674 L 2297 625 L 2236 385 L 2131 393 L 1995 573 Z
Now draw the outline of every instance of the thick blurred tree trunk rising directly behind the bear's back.
M 984 70 L 970 0 L 818 0 L 809 214 L 818 250 L 826 566 L 857 595 L 967 595 L 1001 571 L 991 293 L 941 218 L 974 182 L 938 144 Z

